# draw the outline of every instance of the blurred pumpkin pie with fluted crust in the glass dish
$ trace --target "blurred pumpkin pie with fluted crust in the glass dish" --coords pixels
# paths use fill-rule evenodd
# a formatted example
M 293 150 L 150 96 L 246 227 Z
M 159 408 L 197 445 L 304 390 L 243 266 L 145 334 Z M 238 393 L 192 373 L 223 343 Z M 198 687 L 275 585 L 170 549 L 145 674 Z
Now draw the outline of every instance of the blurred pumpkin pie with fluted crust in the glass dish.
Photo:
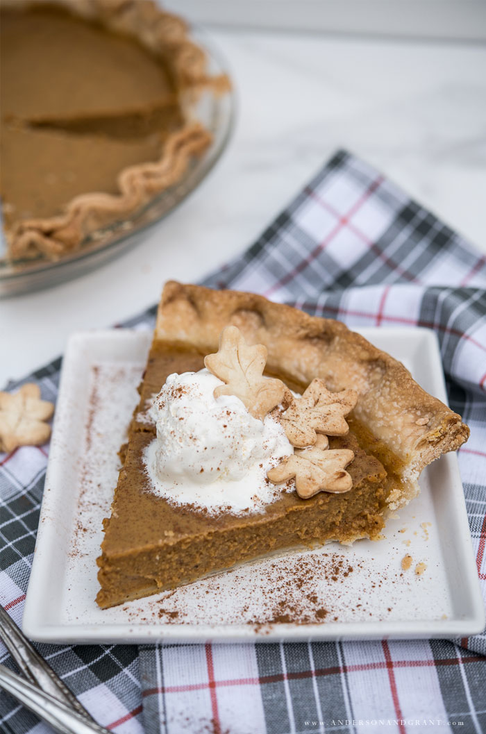
M 8 252 L 57 258 L 181 179 L 211 142 L 191 104 L 218 80 L 151 0 L 1 0 L 0 13 Z

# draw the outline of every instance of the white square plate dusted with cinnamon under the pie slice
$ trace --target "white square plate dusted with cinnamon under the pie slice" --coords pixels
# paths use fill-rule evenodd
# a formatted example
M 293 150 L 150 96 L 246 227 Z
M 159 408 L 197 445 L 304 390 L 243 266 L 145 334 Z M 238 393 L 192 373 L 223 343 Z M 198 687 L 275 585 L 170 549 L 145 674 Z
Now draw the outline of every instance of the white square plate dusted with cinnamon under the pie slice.
M 446 402 L 434 333 L 360 333 Z M 27 636 L 78 643 L 269 642 L 459 637 L 482 630 L 485 612 L 454 454 L 422 473 L 420 495 L 388 521 L 380 542 L 328 543 L 98 608 L 101 523 L 109 515 L 117 451 L 137 404 L 149 344 L 146 331 L 70 338 L 23 615 Z M 407 570 L 405 555 L 411 557 Z

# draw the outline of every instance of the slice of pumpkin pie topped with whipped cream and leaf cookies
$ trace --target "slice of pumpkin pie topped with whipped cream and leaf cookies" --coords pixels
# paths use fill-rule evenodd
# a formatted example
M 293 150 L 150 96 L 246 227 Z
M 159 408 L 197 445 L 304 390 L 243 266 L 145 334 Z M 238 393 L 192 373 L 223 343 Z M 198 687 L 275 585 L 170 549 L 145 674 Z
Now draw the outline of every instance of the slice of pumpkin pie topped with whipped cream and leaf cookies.
M 104 521 L 102 608 L 269 553 L 379 539 L 469 433 L 344 324 L 173 282 L 139 393 Z

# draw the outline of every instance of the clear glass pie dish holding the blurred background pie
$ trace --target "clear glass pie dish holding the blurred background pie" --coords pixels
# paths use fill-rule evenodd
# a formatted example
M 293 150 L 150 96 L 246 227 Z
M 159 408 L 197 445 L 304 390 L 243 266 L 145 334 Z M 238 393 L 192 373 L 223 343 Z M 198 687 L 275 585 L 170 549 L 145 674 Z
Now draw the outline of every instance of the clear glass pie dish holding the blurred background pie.
M 214 76 L 227 73 L 225 64 L 206 34 L 192 28 L 192 40 L 206 52 L 208 73 Z M 222 95 L 204 92 L 192 117 L 211 132 L 212 142 L 203 156 L 194 159 L 178 183 L 156 195 L 139 211 L 126 219 L 95 231 L 87 236 L 75 252 L 59 260 L 44 255 L 12 260 L 6 256 L 4 236 L 0 241 L 0 297 L 50 288 L 84 275 L 134 247 L 145 236 L 145 231 L 170 214 L 206 178 L 222 155 L 231 137 L 235 115 L 234 95 L 231 90 Z

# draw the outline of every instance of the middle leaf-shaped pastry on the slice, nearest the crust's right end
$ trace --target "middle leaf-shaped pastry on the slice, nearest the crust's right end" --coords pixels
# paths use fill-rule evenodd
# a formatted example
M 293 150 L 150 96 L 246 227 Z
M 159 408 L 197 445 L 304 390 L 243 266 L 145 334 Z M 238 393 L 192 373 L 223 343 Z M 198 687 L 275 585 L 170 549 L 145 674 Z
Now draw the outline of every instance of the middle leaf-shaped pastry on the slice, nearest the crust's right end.
M 313 446 L 316 433 L 328 436 L 344 436 L 349 426 L 344 420 L 356 404 L 356 390 L 331 393 L 323 379 L 313 379 L 301 398 L 294 399 L 280 416 L 292 446 Z

